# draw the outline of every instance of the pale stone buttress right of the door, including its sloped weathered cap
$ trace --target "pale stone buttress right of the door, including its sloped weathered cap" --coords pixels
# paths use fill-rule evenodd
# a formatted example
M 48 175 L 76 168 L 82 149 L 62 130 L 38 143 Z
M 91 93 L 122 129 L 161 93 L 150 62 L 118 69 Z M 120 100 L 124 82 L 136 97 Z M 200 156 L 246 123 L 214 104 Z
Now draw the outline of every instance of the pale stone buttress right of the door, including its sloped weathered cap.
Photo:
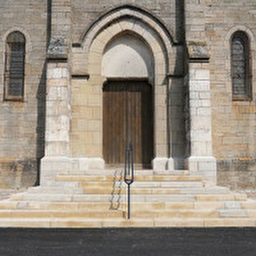
M 187 137 L 190 140 L 190 155 L 186 159 L 186 165 L 191 174 L 200 175 L 207 184 L 214 185 L 216 184 L 216 159 L 212 155 L 208 50 L 204 42 L 193 42 L 188 45 L 188 48 L 190 63 L 187 81 L 189 86 L 189 135 Z M 196 57 L 195 53 L 197 53 Z

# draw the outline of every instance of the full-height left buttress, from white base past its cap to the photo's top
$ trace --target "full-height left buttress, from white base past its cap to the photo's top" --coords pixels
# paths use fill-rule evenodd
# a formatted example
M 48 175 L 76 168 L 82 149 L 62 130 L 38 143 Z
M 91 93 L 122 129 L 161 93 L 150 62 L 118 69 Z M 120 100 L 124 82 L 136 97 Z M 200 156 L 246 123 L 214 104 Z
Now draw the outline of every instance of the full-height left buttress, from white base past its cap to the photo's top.
M 71 75 L 69 71 L 69 38 L 71 3 L 53 0 L 51 38 L 48 46 L 46 80 L 45 155 L 41 161 L 40 184 L 50 185 L 57 173 L 71 169 Z

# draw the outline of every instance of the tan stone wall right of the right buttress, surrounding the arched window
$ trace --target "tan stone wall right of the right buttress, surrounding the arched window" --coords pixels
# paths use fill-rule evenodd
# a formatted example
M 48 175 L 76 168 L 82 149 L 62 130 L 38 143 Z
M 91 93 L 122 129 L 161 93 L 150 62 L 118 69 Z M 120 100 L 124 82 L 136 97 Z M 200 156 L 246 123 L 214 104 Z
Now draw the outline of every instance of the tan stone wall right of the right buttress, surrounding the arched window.
M 195 26 L 188 33 L 191 37 L 203 35 L 210 48 L 212 134 L 214 156 L 217 158 L 217 183 L 233 189 L 255 188 L 256 3 L 253 0 L 202 2 L 203 17 L 200 14 L 200 19 L 194 19 Z M 199 34 L 198 29 L 195 31 L 200 25 L 205 27 L 204 34 Z M 249 37 L 253 74 L 251 101 L 232 100 L 230 40 L 232 33 L 239 30 Z

